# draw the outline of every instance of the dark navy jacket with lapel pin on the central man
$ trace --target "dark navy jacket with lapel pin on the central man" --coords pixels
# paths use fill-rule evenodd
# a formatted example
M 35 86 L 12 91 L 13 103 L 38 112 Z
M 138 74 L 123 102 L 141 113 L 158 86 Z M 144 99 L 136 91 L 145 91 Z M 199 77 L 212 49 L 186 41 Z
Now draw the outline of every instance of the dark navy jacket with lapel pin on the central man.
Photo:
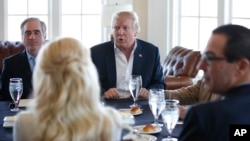
M 91 57 L 97 67 L 102 94 L 116 87 L 114 42 L 109 41 L 91 48 Z M 165 88 L 159 50 L 153 44 L 137 39 L 132 74 L 142 76 L 144 88 Z

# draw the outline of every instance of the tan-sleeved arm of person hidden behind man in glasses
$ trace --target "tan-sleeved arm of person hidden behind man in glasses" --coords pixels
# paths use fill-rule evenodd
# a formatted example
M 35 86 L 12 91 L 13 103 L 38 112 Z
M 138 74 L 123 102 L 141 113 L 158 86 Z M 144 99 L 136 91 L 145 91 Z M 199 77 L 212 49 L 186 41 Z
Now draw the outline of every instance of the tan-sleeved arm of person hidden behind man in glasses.
M 204 88 L 202 80 L 198 80 L 194 85 L 176 90 L 166 90 L 170 98 L 178 99 L 180 105 L 192 105 L 198 102 L 219 100 L 221 95 L 209 93 Z M 180 118 L 183 119 L 188 106 L 180 106 Z

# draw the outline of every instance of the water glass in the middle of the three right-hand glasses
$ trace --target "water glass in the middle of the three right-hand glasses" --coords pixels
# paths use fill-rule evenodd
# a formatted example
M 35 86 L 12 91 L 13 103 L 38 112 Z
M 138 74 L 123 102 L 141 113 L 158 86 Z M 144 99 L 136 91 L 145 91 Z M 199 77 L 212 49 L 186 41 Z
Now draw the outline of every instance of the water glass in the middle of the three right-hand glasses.
M 166 105 L 164 90 L 163 89 L 150 89 L 148 104 L 149 104 L 151 112 L 154 115 L 154 125 L 156 125 L 157 127 L 162 126 L 162 124 L 158 123 L 158 118 Z

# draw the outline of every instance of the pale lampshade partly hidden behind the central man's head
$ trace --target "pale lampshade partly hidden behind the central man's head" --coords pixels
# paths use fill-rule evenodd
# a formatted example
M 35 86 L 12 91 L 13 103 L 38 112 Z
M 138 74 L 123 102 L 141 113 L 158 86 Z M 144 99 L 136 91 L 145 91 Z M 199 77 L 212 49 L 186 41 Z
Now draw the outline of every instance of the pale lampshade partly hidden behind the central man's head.
M 112 15 L 119 11 L 133 11 L 132 4 L 107 4 L 102 6 L 102 41 L 110 41 L 112 38 Z

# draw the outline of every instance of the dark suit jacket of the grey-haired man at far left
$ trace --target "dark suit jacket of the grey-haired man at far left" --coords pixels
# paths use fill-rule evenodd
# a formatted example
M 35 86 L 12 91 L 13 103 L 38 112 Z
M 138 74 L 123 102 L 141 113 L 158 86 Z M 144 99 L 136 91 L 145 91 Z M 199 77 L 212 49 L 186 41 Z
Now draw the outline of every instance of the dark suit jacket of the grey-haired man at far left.
M 21 98 L 29 98 L 32 91 L 32 72 L 26 51 L 10 56 L 3 61 L 1 74 L 1 96 L 3 100 L 12 100 L 9 94 L 9 79 L 20 77 L 23 79 L 23 94 Z

